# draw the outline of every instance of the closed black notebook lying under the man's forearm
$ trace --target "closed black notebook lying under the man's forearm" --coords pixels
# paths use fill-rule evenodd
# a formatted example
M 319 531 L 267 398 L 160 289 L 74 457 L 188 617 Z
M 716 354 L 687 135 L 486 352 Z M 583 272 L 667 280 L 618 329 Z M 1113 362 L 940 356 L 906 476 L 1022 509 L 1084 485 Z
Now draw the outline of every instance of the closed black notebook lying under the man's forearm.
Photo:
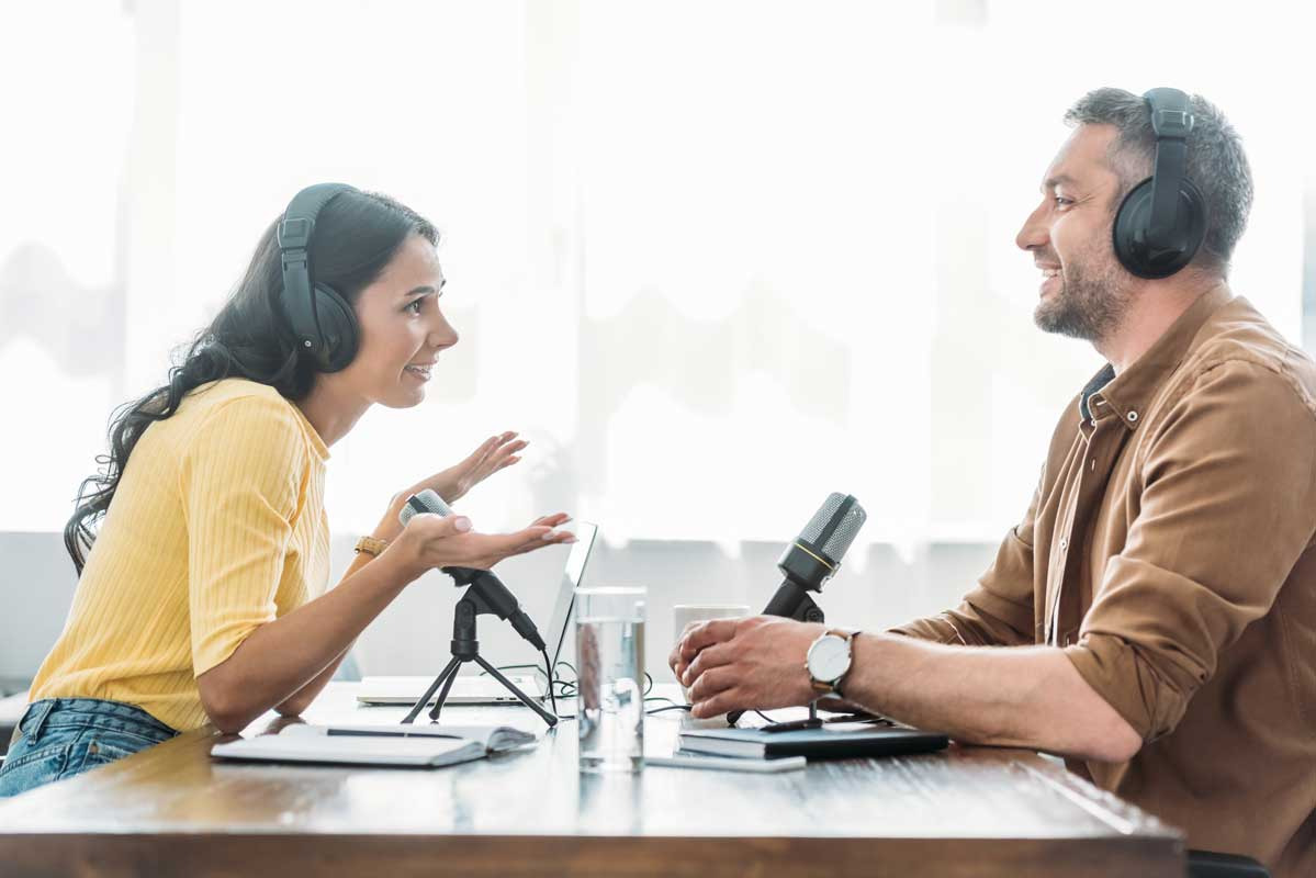
M 804 756 L 811 760 L 841 760 L 863 756 L 900 756 L 945 749 L 950 738 L 937 732 L 874 727 L 867 723 L 828 723 L 820 728 L 790 732 L 763 729 L 686 729 L 680 749 L 713 756 L 774 760 Z

